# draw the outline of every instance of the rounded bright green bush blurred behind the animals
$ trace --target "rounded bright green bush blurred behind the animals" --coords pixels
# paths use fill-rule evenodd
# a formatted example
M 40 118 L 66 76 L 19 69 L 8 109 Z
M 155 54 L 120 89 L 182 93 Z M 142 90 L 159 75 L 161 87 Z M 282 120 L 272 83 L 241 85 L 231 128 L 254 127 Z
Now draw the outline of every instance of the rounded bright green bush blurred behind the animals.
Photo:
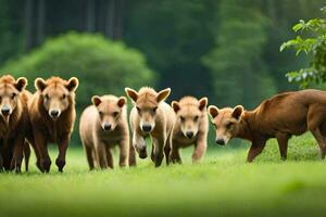
M 93 94 L 124 94 L 123 88 L 153 86 L 153 72 L 143 55 L 122 42 L 100 35 L 70 33 L 48 40 L 42 47 L 10 61 L 1 74 L 36 77 L 79 78 L 78 106 L 90 104 Z M 33 85 L 29 85 L 29 87 Z

